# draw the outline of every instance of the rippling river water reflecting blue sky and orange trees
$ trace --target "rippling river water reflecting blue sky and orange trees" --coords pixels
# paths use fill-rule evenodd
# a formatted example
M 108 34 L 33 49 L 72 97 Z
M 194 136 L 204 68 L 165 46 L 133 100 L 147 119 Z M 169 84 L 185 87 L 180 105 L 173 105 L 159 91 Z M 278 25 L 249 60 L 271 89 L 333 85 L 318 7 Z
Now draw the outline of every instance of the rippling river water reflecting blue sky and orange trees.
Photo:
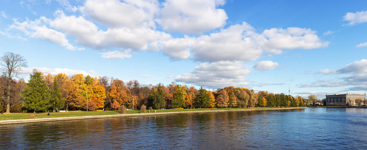
M 11 149 L 367 149 L 366 108 L 310 107 L 0 125 Z

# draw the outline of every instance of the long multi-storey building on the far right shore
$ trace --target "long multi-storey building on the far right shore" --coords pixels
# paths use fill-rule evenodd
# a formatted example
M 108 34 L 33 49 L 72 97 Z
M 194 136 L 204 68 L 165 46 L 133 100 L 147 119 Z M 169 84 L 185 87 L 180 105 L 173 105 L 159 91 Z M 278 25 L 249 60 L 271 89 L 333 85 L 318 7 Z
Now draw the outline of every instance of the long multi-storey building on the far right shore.
M 355 93 L 345 93 L 345 94 L 326 94 L 325 99 L 326 105 L 333 106 L 361 106 L 366 105 L 366 94 L 355 94 Z

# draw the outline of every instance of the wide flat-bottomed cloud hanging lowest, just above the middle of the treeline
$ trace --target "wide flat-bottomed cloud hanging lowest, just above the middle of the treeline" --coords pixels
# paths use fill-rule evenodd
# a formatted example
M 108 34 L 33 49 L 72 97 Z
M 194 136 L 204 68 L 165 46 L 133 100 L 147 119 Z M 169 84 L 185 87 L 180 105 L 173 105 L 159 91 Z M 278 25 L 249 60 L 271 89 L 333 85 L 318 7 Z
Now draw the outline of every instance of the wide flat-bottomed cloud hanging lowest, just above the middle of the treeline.
M 176 76 L 179 82 L 190 83 L 206 88 L 223 88 L 224 86 L 247 86 L 244 75 L 250 70 L 240 61 L 219 61 L 201 63 L 190 73 Z

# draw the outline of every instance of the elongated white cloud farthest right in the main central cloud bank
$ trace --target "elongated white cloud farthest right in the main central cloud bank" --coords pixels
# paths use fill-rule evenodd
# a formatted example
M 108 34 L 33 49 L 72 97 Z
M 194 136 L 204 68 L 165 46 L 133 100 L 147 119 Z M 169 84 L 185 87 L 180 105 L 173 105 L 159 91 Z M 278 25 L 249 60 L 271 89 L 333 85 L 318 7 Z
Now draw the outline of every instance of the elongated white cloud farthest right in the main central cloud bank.
M 314 49 L 325 47 L 329 43 L 321 41 L 316 31 L 299 27 L 265 29 L 262 35 L 262 48 L 275 54 L 281 53 L 281 49 Z

